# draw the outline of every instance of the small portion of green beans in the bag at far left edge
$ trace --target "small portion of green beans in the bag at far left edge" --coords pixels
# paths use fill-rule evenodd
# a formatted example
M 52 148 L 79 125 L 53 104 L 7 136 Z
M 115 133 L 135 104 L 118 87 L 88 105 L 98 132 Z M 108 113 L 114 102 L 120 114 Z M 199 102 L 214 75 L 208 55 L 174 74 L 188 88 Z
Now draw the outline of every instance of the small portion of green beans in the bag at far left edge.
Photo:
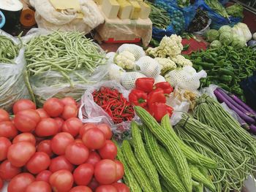
M 15 45 L 12 39 L 0 35 L 0 63 L 14 64 L 14 58 L 18 56 L 20 46 Z

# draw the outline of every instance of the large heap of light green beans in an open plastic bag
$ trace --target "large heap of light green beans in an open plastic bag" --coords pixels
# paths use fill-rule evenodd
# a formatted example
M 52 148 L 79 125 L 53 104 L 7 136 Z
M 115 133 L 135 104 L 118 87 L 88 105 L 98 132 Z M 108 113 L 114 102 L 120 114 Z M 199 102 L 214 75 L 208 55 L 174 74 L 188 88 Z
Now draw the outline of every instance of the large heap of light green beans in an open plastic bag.
M 70 73 L 88 82 L 77 71 L 81 69 L 93 73 L 97 66 L 106 62 L 105 53 L 80 32 L 55 31 L 53 34 L 34 37 L 26 44 L 25 57 L 29 77 L 56 71 L 67 78 L 71 85 Z

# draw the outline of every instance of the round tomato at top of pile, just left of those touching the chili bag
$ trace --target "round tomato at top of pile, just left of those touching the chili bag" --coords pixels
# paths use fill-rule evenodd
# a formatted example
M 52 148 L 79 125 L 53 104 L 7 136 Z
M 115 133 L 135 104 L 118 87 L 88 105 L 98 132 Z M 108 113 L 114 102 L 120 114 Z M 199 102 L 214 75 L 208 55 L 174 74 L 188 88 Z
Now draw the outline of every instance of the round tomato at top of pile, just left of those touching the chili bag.
M 50 117 L 56 118 L 63 112 L 64 104 L 59 99 L 50 98 L 45 101 L 43 109 L 50 115 Z

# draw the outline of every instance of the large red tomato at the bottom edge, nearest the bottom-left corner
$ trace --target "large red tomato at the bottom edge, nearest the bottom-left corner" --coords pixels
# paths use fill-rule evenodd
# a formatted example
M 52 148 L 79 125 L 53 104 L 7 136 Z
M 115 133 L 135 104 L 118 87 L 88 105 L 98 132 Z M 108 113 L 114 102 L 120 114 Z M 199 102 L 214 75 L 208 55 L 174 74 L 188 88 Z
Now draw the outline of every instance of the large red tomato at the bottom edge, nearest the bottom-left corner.
M 34 176 L 29 173 L 20 173 L 12 178 L 7 191 L 8 192 L 25 192 L 27 186 L 34 182 Z

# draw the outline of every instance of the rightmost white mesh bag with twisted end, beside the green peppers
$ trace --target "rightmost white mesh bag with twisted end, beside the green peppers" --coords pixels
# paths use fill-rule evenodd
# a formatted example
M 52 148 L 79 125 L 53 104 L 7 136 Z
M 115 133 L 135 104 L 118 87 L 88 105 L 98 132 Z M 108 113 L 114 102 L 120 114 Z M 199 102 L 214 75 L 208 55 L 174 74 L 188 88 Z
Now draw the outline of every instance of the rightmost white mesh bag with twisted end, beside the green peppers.
M 205 71 L 196 72 L 192 66 L 185 66 L 183 69 L 170 71 L 165 78 L 170 85 L 189 91 L 196 91 L 200 87 L 200 78 L 206 77 Z

